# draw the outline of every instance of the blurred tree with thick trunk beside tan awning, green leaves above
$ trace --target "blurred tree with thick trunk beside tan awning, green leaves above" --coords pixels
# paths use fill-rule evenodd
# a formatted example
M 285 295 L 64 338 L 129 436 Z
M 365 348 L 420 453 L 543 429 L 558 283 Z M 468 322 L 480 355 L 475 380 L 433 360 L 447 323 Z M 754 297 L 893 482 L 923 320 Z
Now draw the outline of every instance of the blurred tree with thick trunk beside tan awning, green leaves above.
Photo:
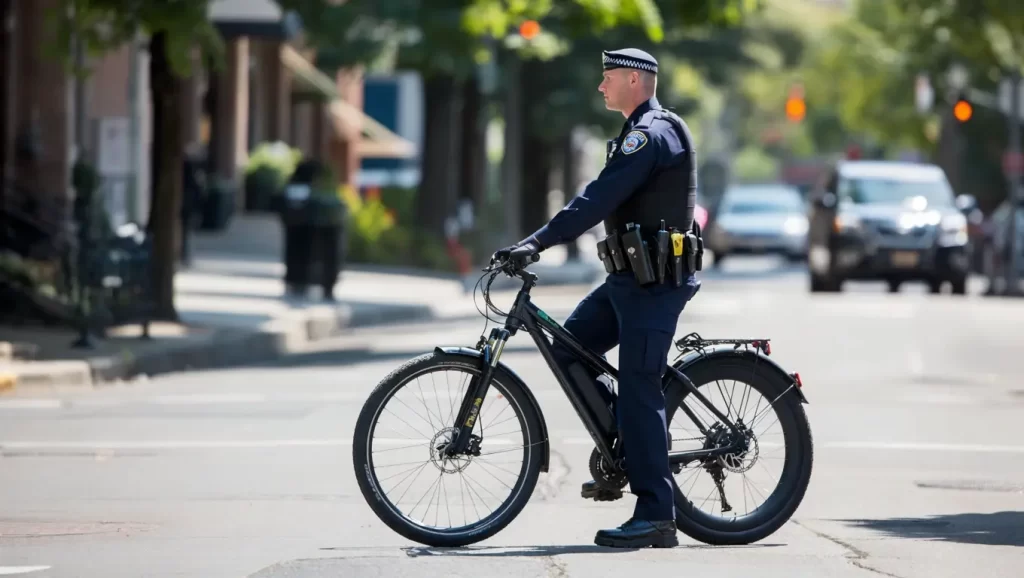
M 562 39 L 548 31 L 559 22 L 580 34 L 600 33 L 637 23 L 660 34 L 650 0 L 618 3 L 573 0 L 283 0 L 306 22 L 317 48 L 317 66 L 339 67 L 389 59 L 395 68 L 420 72 L 425 84 L 423 176 L 417 196 L 422 226 L 435 235 L 459 197 L 480 198 L 483 190 L 483 126 L 487 104 L 480 95 L 480 67 L 510 55 L 550 58 L 563 51 Z M 541 19 L 545 32 L 517 42 L 523 20 Z M 505 87 L 507 88 L 507 87 Z

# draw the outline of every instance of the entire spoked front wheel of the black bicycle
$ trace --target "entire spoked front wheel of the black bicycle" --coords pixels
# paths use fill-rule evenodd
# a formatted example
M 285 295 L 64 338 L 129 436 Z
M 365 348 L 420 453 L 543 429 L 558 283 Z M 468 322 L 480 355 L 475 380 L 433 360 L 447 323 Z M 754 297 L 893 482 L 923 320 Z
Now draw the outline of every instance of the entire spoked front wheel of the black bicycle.
M 540 416 L 500 368 L 473 425 L 474 455 L 443 455 L 478 364 L 451 354 L 416 358 L 377 385 L 356 421 L 352 460 L 362 496 L 382 522 L 415 542 L 453 547 L 489 538 L 519 514 L 537 486 Z

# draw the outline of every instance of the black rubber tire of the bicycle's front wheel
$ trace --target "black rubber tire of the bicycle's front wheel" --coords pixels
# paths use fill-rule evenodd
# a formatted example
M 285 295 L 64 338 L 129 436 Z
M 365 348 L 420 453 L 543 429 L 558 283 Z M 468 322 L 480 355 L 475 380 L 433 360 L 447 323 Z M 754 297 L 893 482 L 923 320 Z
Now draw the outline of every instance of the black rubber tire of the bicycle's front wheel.
M 526 454 L 520 467 L 519 477 L 509 497 L 494 513 L 478 523 L 457 530 L 440 530 L 415 524 L 396 511 L 394 506 L 381 495 L 380 486 L 373 471 L 373 460 L 369 455 L 377 418 L 387 401 L 412 378 L 431 370 L 456 369 L 479 375 L 478 363 L 443 353 L 430 353 L 410 360 L 396 368 L 374 388 L 365 402 L 356 420 L 352 439 L 352 461 L 355 477 L 362 497 L 374 513 L 384 524 L 399 535 L 420 544 L 434 547 L 465 546 L 485 540 L 505 529 L 518 517 L 532 496 L 541 472 L 543 427 L 540 416 L 530 398 L 523 391 L 508 372 L 496 368 L 490 386 L 500 390 L 513 407 L 519 418 L 526 444 Z M 484 439 L 482 447 L 486 447 Z

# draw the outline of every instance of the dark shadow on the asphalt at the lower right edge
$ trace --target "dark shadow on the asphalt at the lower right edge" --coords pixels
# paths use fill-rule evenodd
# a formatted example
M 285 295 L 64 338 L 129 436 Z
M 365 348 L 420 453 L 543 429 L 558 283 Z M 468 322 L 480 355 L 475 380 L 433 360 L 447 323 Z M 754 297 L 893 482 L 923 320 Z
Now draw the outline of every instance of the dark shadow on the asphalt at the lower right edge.
M 1024 546 L 1024 512 L 952 513 L 929 518 L 842 520 L 899 538 L 988 546 Z

